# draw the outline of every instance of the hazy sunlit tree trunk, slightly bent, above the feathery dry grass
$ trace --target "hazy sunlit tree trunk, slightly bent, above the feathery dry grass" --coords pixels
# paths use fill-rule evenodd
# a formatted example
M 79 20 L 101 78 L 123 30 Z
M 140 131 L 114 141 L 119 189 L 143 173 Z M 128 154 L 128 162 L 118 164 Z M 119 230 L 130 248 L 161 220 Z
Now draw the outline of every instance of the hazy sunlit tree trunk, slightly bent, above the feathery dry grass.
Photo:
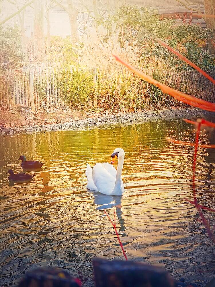
M 78 11 L 75 8 L 73 0 L 67 0 L 67 5 L 68 5 L 67 13 L 69 15 L 69 22 L 71 27 L 71 41 L 75 43 L 78 40 L 78 24 L 77 24 Z

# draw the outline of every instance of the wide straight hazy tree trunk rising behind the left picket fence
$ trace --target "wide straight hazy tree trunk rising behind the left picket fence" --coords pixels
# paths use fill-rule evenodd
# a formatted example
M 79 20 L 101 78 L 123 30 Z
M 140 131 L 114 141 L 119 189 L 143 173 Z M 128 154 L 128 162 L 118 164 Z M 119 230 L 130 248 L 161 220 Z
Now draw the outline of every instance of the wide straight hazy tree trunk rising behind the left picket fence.
M 34 0 L 34 56 L 37 61 L 44 57 L 44 3 Z

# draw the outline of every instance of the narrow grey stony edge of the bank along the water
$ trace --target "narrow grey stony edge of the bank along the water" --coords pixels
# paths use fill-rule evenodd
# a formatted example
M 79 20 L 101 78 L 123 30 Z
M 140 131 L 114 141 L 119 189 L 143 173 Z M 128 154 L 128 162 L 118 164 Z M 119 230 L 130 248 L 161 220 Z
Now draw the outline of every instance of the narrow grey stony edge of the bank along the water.
M 187 117 L 203 117 L 215 115 L 213 112 L 200 110 L 198 108 L 182 108 L 169 110 L 156 110 L 148 112 L 106 114 L 100 117 L 86 117 L 85 119 L 74 119 L 65 123 L 53 123 L 47 125 L 30 125 L 26 127 L 0 127 L 1 135 L 13 135 L 17 133 L 34 133 L 42 131 L 68 131 L 83 130 L 94 127 L 110 126 L 122 123 L 144 123 L 157 119 L 180 119 Z

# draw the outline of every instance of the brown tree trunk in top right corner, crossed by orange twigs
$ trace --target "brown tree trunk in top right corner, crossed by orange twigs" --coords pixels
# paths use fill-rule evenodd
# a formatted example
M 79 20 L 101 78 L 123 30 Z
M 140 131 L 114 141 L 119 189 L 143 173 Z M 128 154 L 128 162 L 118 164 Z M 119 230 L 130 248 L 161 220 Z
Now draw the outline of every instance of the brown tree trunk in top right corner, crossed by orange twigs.
M 205 14 L 215 15 L 215 0 L 204 0 L 204 6 L 205 6 Z M 215 18 L 206 18 L 206 24 L 207 28 L 209 29 L 215 29 Z M 214 43 L 214 44 L 213 44 Z M 209 53 L 211 55 L 215 54 L 215 35 L 212 39 L 208 40 L 209 45 Z

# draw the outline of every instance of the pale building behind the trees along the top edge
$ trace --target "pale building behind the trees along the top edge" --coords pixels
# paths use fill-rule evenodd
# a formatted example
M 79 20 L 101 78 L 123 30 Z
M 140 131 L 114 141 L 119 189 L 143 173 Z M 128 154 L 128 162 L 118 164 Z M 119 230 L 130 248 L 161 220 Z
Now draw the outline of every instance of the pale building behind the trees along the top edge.
M 47 8 L 49 9 L 49 21 L 50 21 L 50 34 L 52 36 L 70 36 L 70 21 L 68 13 L 59 7 L 56 4 L 50 5 L 50 0 L 43 0 L 44 4 L 44 16 L 46 15 Z M 60 0 L 59 0 L 60 1 Z M 71 0 L 73 1 L 75 8 L 78 11 L 78 27 L 79 27 L 79 34 L 89 26 L 91 23 L 92 18 L 90 15 L 93 15 L 93 0 Z M 19 7 L 22 7 L 28 0 L 18 0 Z M 105 4 L 104 4 L 105 2 Z M 7 0 L 0 0 L 1 3 L 1 14 L 0 20 L 4 20 L 9 15 L 17 11 L 17 6 L 13 5 L 12 3 L 8 2 Z M 60 3 L 64 6 L 67 6 L 67 0 L 62 0 Z M 137 5 L 138 7 L 146 7 L 151 6 L 153 8 L 158 9 L 161 18 L 174 18 L 179 20 L 179 22 L 187 22 L 187 23 L 197 23 L 200 24 L 202 27 L 205 27 L 206 24 L 203 19 L 195 19 L 192 16 L 192 11 L 186 9 L 181 3 L 175 0 L 103 0 L 102 3 L 100 0 L 97 0 L 97 8 L 98 12 L 103 11 L 106 9 L 110 9 L 114 11 L 120 5 Z M 200 9 L 200 11 L 204 12 L 204 0 L 196 0 L 195 4 L 191 7 L 193 9 Z M 27 36 L 31 36 L 34 30 L 34 4 L 26 7 L 20 13 L 21 17 L 24 19 L 24 29 Z M 19 24 L 19 18 L 16 15 L 15 17 L 11 18 L 11 20 L 7 21 L 4 25 L 5 26 L 14 26 L 14 24 Z M 47 21 L 44 19 L 44 34 L 47 34 Z

